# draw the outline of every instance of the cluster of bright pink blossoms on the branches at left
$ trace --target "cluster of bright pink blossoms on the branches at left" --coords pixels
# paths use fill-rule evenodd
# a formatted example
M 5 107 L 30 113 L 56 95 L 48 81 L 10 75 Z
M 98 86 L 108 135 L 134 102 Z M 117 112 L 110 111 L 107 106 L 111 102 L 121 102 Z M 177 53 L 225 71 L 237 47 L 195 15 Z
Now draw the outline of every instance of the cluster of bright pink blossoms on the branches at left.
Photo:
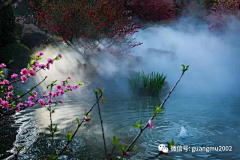
M 43 55 L 43 53 L 38 53 L 36 54 L 36 56 L 40 59 L 40 57 Z M 59 60 L 62 58 L 61 54 L 58 54 L 55 58 L 55 60 Z M 22 83 L 27 82 L 29 77 L 34 77 L 36 76 L 37 73 L 37 68 L 39 69 L 45 69 L 45 67 L 47 69 L 49 69 L 50 64 L 53 64 L 53 59 L 48 59 L 47 64 L 39 64 L 38 61 L 34 61 L 34 63 L 27 68 L 23 68 L 20 72 L 20 78 L 19 80 L 22 81 Z M 4 69 L 6 67 L 6 65 L 4 63 L 0 64 L 0 70 Z M 35 106 L 36 103 L 40 104 L 41 106 L 45 106 L 45 105 L 49 105 L 49 104 L 53 104 L 55 103 L 52 98 L 55 98 L 57 96 L 62 96 L 65 93 L 65 90 L 68 89 L 70 91 L 76 90 L 78 88 L 78 86 L 71 86 L 71 85 L 67 85 L 67 87 L 64 87 L 63 85 L 57 85 L 57 91 L 54 93 L 48 93 L 48 95 L 43 95 L 41 96 L 42 98 L 37 98 L 38 93 L 36 91 L 32 91 L 30 92 L 30 96 L 27 98 L 27 100 L 23 100 L 22 95 L 15 95 L 14 92 L 14 87 L 11 85 L 13 82 L 18 81 L 18 74 L 12 74 L 11 75 L 11 80 L 9 82 L 9 80 L 7 79 L 2 79 L 2 77 L 0 76 L 0 86 L 1 88 L 4 90 L 4 98 L 0 98 L 0 107 L 1 108 L 6 108 L 9 110 L 12 109 L 16 109 L 16 112 L 19 112 L 21 107 L 27 108 L 27 107 L 33 107 Z M 68 80 L 71 79 L 71 77 L 68 77 Z M 67 81 L 65 81 L 67 82 Z M 65 83 L 63 83 L 65 84 Z M 65 90 L 64 90 L 65 89 Z M 44 101 L 44 98 L 46 98 L 47 100 Z M 63 100 L 59 100 L 59 103 L 63 103 Z

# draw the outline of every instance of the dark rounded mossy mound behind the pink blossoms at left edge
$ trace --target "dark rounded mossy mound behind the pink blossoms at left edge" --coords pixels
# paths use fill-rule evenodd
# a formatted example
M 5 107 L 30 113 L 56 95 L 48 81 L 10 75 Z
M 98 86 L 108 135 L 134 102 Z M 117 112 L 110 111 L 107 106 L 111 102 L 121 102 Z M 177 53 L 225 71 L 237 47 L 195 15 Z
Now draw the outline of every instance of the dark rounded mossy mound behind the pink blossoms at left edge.
M 10 44 L 4 48 L 0 48 L 0 62 L 8 64 L 9 60 L 12 63 L 7 65 L 11 72 L 19 73 L 22 68 L 27 67 L 30 62 L 32 51 L 23 44 Z

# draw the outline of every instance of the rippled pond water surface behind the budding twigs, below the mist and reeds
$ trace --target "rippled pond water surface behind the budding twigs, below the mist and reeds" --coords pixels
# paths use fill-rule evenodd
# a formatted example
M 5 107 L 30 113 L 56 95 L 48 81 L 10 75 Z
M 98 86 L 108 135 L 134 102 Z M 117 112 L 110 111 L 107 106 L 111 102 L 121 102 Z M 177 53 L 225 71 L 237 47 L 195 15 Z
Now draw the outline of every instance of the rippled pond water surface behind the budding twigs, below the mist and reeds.
M 171 101 L 166 103 L 165 111 L 153 121 L 154 130 L 146 131 L 136 143 L 136 149 L 131 153 L 131 159 L 239 159 L 237 146 L 240 141 L 239 122 L 236 113 L 240 102 L 233 97 L 192 97 L 187 95 L 173 95 Z M 219 100 L 219 101 L 218 101 Z M 159 99 L 106 97 L 106 104 L 101 104 L 102 117 L 107 140 L 108 150 L 112 149 L 112 136 L 121 138 L 120 144 L 129 144 L 138 130 L 132 125 L 140 119 L 144 123 L 152 115 L 153 109 Z M 52 148 L 61 148 L 66 144 L 67 131 L 74 131 L 77 123 L 75 119 L 83 118 L 84 110 L 89 109 L 94 100 L 69 102 L 56 107 L 53 115 L 54 124 L 60 128 L 56 134 L 54 144 L 51 146 L 48 134 L 49 112 L 46 108 L 33 109 L 17 115 L 17 123 L 21 123 L 15 146 L 21 144 L 30 146 L 30 149 L 21 159 L 40 159 L 43 155 L 51 154 Z M 193 105 L 194 104 L 194 105 Z M 219 105 L 225 106 L 221 112 Z M 193 109 L 194 106 L 194 109 Z M 235 109 L 236 112 L 232 112 Z M 223 114 L 227 113 L 227 114 Z M 232 113 L 232 114 L 231 114 Z M 220 114 L 221 117 L 215 116 Z M 92 120 L 84 123 L 71 144 L 69 153 L 62 159 L 94 159 L 104 158 L 103 140 L 97 108 L 91 113 Z M 230 118 L 229 116 L 232 116 Z M 23 125 L 24 124 L 24 125 Z M 227 137 L 232 138 L 227 138 Z M 219 146 L 231 145 L 233 152 L 172 152 L 168 156 L 158 155 L 157 146 L 171 141 L 172 138 L 181 145 L 192 146 Z M 37 141 L 36 141 L 37 140 Z M 36 142 L 35 142 L 36 141 Z M 33 144 L 33 142 L 35 142 Z M 32 145 L 33 144 L 33 145 Z M 115 155 L 120 155 L 117 149 Z M 157 156 L 157 157 L 155 157 Z M 231 157 L 231 158 L 229 158 Z

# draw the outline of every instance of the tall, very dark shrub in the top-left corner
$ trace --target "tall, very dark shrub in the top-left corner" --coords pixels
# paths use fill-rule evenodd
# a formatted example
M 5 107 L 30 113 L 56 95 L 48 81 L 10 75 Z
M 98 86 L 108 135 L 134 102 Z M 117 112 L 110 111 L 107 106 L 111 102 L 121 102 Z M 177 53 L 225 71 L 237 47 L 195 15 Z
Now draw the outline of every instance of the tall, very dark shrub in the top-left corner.
M 15 16 L 11 5 L 0 10 L 0 47 L 15 42 Z

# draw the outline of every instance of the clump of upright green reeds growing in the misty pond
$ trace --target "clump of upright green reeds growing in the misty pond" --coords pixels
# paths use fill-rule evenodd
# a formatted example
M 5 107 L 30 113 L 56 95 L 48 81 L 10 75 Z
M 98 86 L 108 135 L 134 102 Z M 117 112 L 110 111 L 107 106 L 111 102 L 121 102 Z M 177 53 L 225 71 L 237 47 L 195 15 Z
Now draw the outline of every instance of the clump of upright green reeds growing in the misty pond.
M 128 78 L 132 90 L 139 95 L 159 96 L 164 87 L 167 86 L 166 75 L 158 72 L 145 74 L 138 72 L 136 76 Z

